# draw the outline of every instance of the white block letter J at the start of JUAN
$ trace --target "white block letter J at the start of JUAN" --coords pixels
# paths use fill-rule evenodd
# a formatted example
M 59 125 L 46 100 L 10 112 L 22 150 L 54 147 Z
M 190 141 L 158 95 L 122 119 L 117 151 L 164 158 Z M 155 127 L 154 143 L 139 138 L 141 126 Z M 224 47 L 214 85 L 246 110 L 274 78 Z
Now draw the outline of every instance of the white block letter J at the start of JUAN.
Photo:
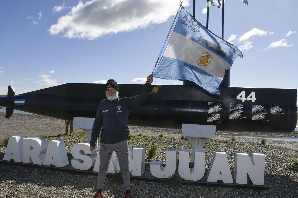
M 157 178 L 170 178 L 175 174 L 177 164 L 177 149 L 166 150 L 166 167 L 162 162 L 153 161 L 150 164 L 150 172 Z

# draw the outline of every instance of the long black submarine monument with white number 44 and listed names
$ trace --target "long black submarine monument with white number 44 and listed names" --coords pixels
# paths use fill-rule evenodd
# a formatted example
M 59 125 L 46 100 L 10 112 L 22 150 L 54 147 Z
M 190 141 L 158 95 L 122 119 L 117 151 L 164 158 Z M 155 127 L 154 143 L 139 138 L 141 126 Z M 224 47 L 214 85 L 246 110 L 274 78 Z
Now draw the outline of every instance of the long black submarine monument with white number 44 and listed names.
M 143 85 L 119 84 L 119 96 L 137 95 Z M 0 106 L 72 121 L 94 118 L 105 84 L 67 83 L 15 95 L 8 86 Z M 297 89 L 220 87 L 220 95 L 197 85 L 151 85 L 152 94 L 131 110 L 129 124 L 180 128 L 182 123 L 216 125 L 217 131 L 293 132 L 297 123 Z

